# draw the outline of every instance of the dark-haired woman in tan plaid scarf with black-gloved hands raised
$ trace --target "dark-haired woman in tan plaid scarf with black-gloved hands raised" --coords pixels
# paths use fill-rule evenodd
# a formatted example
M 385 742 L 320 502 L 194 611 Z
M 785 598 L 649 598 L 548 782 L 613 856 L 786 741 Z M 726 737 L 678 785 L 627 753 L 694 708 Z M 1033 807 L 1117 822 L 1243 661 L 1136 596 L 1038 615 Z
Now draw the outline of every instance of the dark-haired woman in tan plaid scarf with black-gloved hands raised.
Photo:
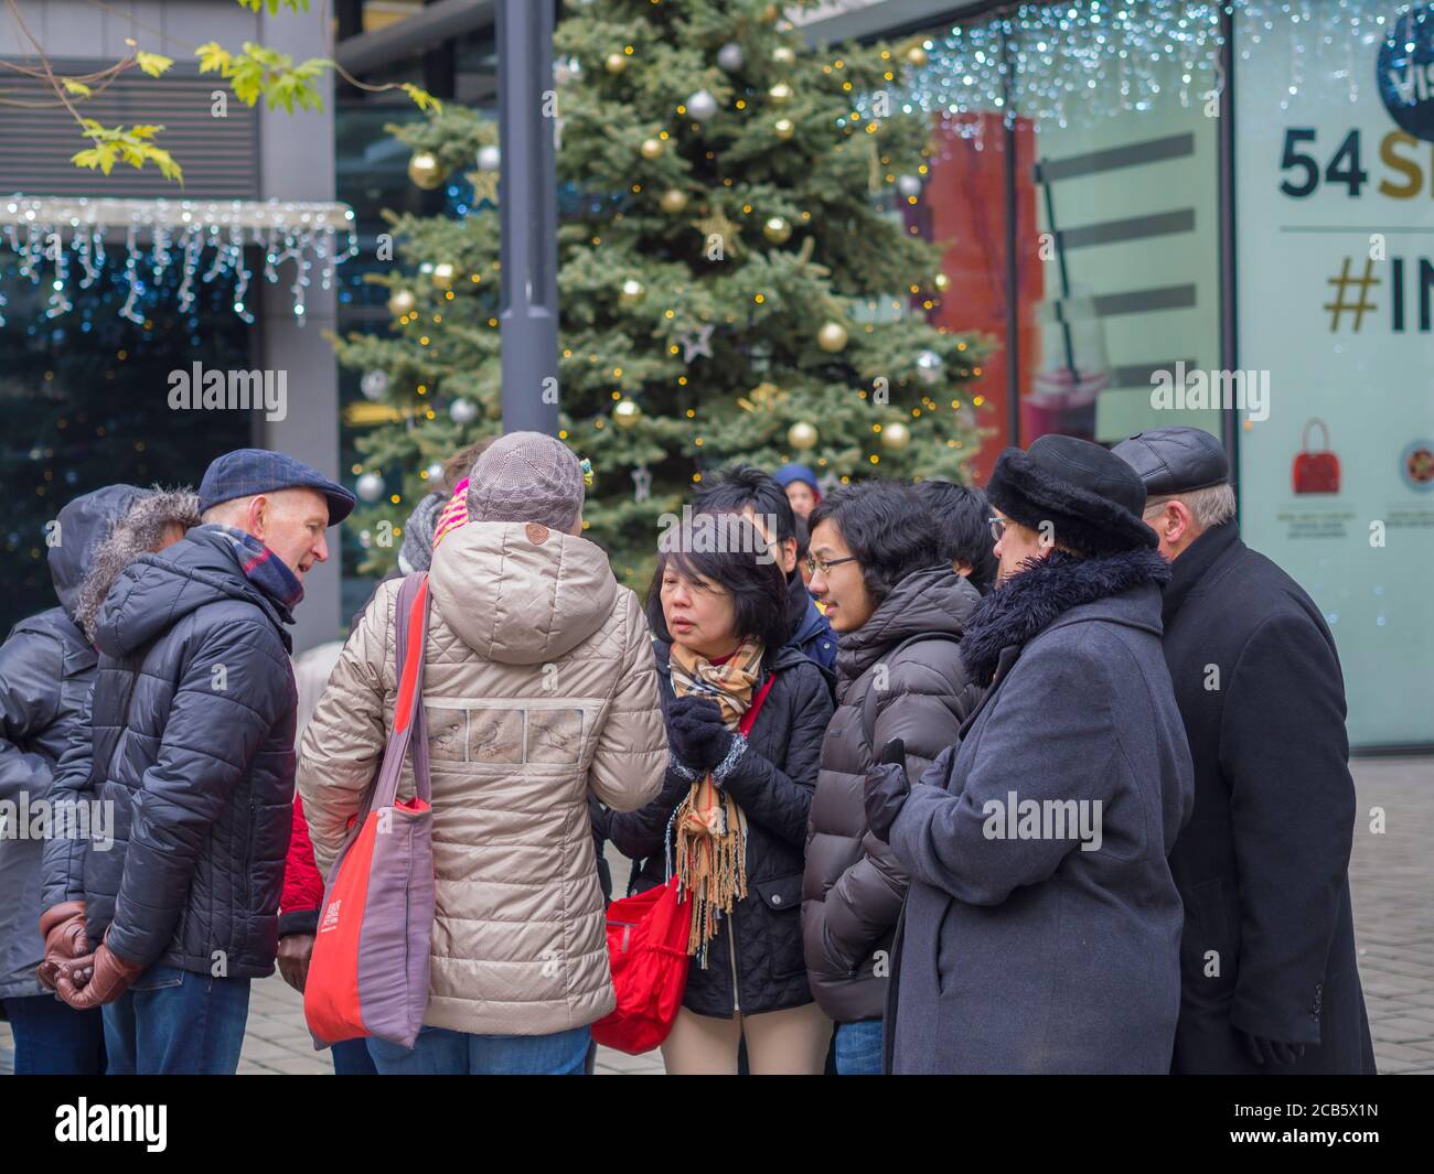
M 630 892 L 693 896 L 687 992 L 663 1059 L 674 1075 L 819 1075 L 832 1023 L 802 958 L 802 851 L 832 700 L 786 642 L 787 585 L 746 517 L 664 533 L 647 608 L 671 758 L 661 796 L 595 811 L 634 862 Z

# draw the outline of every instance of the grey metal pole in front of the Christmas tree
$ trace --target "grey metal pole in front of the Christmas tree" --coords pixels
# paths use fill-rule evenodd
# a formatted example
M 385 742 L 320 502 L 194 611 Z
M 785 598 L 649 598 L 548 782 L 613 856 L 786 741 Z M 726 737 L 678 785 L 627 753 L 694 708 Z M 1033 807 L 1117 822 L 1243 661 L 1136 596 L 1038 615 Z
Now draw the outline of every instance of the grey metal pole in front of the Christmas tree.
M 558 431 L 558 186 L 552 0 L 499 0 L 503 431 Z

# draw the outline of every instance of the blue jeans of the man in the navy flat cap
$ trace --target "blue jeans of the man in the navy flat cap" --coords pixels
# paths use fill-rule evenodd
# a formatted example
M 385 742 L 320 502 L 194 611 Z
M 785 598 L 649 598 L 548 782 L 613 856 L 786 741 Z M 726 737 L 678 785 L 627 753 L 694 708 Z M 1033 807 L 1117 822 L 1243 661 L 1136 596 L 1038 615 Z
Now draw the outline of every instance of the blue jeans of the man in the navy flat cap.
M 248 1019 L 248 979 L 155 963 L 105 1008 L 109 1075 L 232 1077 Z

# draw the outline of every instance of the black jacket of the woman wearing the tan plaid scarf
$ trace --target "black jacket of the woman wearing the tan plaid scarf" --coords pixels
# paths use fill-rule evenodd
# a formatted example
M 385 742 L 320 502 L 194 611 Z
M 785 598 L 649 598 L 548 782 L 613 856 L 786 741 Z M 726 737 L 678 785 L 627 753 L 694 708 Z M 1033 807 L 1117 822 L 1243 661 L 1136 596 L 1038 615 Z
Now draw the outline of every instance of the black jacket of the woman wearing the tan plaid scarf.
M 652 648 L 665 711 L 673 702 L 670 645 Z M 694 963 L 688 970 L 683 1006 L 697 1015 L 727 1019 L 733 1011 L 751 1015 L 812 1002 L 802 960 L 802 849 L 832 695 L 822 669 L 794 645 L 782 648 L 769 671 L 776 681 L 747 734 L 747 750 L 723 780 L 747 816 L 747 896 L 723 919 L 707 969 Z M 664 883 L 667 824 L 690 786 L 668 770 L 663 793 L 647 807 L 598 817 L 598 830 L 638 862 L 630 893 Z

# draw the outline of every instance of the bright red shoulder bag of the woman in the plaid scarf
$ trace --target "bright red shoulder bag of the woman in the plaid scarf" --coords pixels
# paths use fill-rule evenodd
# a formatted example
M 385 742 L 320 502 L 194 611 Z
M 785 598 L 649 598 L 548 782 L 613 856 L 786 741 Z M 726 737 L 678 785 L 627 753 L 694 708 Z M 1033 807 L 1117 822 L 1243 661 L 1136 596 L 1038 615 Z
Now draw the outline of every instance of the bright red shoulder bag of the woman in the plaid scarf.
M 767 677 L 737 730 L 746 735 L 767 700 L 776 674 Z M 677 814 L 675 811 L 673 813 Z M 668 831 L 671 821 L 668 821 Z M 668 863 L 667 884 L 615 900 L 608 906 L 608 962 L 618 1005 L 592 1025 L 592 1038 L 628 1055 L 650 1052 L 667 1039 L 687 991 L 687 936 L 693 900 L 678 894 Z

